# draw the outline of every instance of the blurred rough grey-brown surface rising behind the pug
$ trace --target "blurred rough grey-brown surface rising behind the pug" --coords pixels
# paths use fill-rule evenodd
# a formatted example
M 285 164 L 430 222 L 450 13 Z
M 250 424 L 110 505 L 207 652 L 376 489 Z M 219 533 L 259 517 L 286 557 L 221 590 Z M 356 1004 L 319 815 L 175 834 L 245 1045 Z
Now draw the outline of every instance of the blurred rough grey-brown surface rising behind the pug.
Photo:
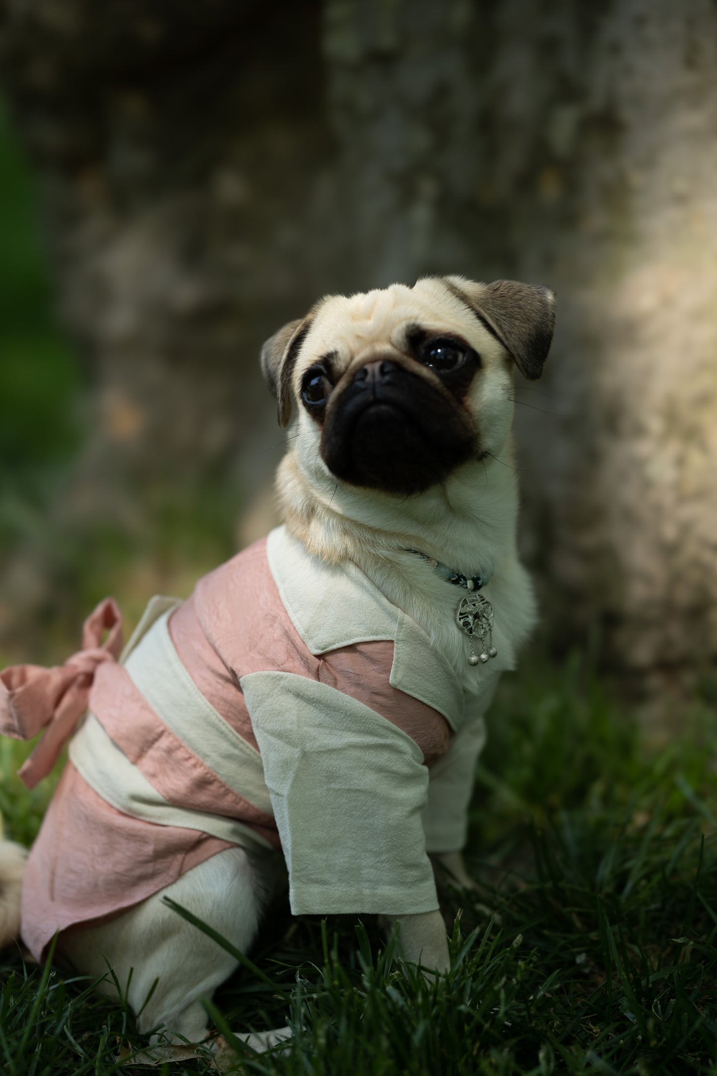
M 258 344 L 325 291 L 547 283 L 554 352 L 516 391 L 545 629 L 632 668 L 717 655 L 713 3 L 27 0 L 2 32 L 96 383 L 72 518 L 238 458 L 259 496 Z

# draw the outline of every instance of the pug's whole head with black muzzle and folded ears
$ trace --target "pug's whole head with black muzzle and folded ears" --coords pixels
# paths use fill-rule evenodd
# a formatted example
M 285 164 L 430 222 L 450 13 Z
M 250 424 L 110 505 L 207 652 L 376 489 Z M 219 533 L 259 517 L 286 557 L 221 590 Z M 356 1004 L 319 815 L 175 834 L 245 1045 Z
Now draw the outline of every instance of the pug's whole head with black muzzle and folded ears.
M 302 456 L 405 496 L 504 443 L 514 366 L 540 378 L 554 324 L 546 287 L 427 278 L 322 299 L 267 341 L 261 365 L 282 426 L 298 401 Z

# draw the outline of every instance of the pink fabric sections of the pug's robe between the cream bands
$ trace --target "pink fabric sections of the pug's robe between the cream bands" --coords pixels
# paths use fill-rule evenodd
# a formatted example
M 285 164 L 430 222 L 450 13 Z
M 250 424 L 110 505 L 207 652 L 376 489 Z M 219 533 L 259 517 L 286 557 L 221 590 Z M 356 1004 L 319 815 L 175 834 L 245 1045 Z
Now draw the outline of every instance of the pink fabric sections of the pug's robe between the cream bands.
M 327 685 L 338 693 L 338 705 L 342 695 L 369 707 L 411 737 L 426 766 L 448 748 L 451 728 L 445 716 L 391 685 L 391 639 L 311 652 L 282 600 L 266 540 L 201 579 L 171 614 L 169 631 L 201 695 L 253 749 L 258 750 L 258 741 L 240 681 L 272 670 Z M 236 820 L 264 846 L 281 848 L 267 804 L 243 795 L 235 781 L 233 788 L 223 781 L 155 712 L 124 665 L 98 659 L 83 676 L 91 681 L 91 714 L 162 803 Z M 12 696 L 11 690 L 11 704 Z M 9 725 L 6 718 L 4 732 Z M 23 938 L 41 959 L 57 931 L 117 915 L 232 843 L 118 810 L 70 762 L 30 852 Z

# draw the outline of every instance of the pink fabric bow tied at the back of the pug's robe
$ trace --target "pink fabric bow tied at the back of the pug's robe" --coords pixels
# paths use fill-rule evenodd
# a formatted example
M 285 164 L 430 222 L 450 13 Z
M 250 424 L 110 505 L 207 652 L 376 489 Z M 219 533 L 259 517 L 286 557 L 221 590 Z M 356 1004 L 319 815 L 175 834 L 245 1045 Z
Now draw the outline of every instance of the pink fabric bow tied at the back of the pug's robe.
M 109 632 L 102 642 L 103 632 Z M 13 665 L 0 672 L 0 733 L 31 739 L 47 726 L 30 758 L 18 770 L 28 789 L 51 771 L 66 741 L 87 709 L 97 667 L 116 662 L 121 651 L 121 614 L 105 598 L 89 614 L 82 632 L 82 650 L 54 668 Z

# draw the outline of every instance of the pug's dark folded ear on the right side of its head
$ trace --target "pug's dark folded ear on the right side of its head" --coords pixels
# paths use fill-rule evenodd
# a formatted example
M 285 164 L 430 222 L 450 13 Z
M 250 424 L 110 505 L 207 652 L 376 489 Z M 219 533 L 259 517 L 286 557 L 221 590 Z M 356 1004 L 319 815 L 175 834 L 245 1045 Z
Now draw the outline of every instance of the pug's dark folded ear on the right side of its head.
M 555 292 L 517 280 L 475 284 L 462 277 L 446 277 L 445 283 L 500 340 L 524 377 L 536 381 L 553 342 Z

